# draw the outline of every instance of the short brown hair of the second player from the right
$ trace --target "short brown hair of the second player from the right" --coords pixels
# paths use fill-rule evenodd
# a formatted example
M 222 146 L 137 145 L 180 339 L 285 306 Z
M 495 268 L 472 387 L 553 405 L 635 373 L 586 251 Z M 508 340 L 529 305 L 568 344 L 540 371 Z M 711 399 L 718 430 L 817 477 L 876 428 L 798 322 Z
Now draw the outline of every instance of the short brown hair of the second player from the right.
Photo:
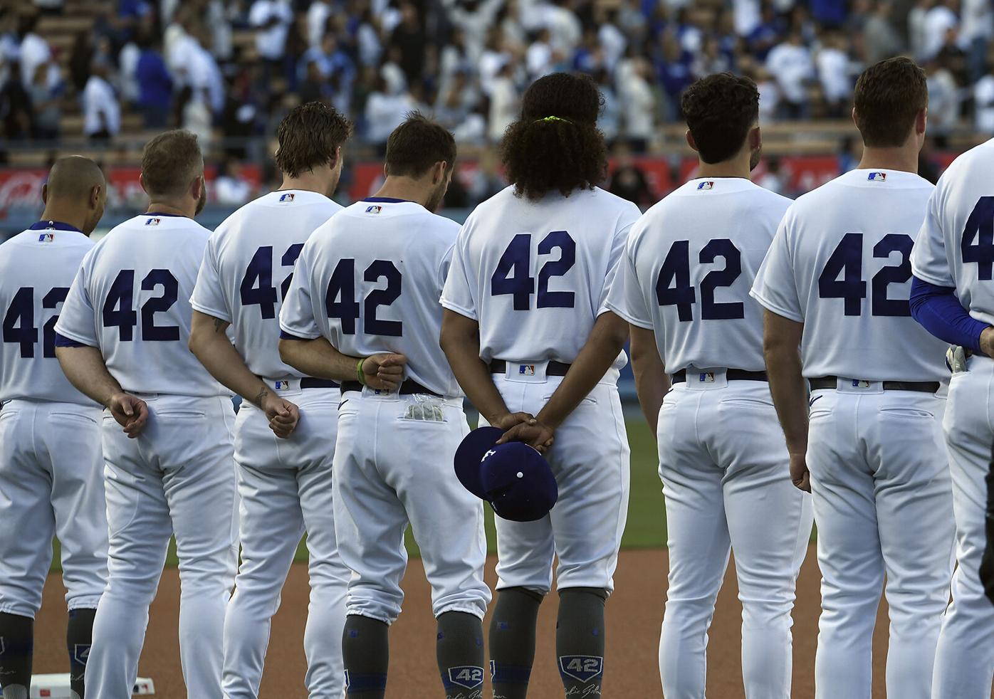
M 856 81 L 853 105 L 866 145 L 904 145 L 918 112 L 928 106 L 925 72 L 904 57 L 875 63 Z

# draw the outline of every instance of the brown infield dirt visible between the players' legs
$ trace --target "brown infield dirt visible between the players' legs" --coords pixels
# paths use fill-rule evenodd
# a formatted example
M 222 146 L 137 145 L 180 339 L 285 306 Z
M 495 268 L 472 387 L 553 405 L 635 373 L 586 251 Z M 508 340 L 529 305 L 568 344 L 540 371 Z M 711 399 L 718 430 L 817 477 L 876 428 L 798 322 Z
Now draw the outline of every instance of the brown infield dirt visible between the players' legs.
M 730 566 L 731 569 L 731 566 Z M 743 697 L 739 652 L 742 608 L 735 595 L 734 574 L 722 591 L 711 628 L 708 648 L 708 697 Z M 493 583 L 493 560 L 488 565 Z M 814 549 L 808 552 L 798 583 L 794 611 L 793 696 L 814 696 L 814 648 L 818 618 L 818 566 Z M 625 551 L 615 577 L 616 593 L 607 603 L 607 654 L 604 661 L 604 697 L 641 699 L 660 697 L 656 649 L 666 592 L 665 551 Z M 391 699 L 433 699 L 440 694 L 434 661 L 434 620 L 429 593 L 418 561 L 412 561 L 404 581 L 405 611 L 391 631 Z M 307 612 L 307 572 L 296 565 L 284 590 L 283 605 L 272 623 L 260 696 L 264 699 L 306 697 L 303 687 L 304 656 L 301 647 Z M 62 583 L 49 579 L 45 606 L 38 616 L 35 671 L 65 672 L 66 631 Z M 151 620 L 139 673 L 155 681 L 156 696 L 183 699 L 186 696 L 180 673 L 177 623 L 179 579 L 175 569 L 165 572 L 159 596 L 152 605 Z M 563 696 L 553 659 L 556 600 L 543 605 L 539 627 L 532 689 L 533 699 Z M 882 610 L 874 638 L 874 696 L 884 696 L 884 653 L 887 618 Z

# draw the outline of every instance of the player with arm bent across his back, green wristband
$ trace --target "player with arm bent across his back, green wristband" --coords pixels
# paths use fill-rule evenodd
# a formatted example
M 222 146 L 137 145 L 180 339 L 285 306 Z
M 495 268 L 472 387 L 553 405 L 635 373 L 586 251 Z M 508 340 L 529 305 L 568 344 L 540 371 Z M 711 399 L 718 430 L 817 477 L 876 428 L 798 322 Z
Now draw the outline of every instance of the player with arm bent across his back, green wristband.
M 308 239 L 279 316 L 287 364 L 345 380 L 334 509 L 339 551 L 353 571 L 342 640 L 351 699 L 386 690 L 409 521 L 431 584 L 444 696 L 482 697 L 483 506 L 452 473 L 469 428 L 438 348 L 438 295 L 458 226 L 432 212 L 454 160 L 455 141 L 441 126 L 417 114 L 398 126 L 383 187 Z

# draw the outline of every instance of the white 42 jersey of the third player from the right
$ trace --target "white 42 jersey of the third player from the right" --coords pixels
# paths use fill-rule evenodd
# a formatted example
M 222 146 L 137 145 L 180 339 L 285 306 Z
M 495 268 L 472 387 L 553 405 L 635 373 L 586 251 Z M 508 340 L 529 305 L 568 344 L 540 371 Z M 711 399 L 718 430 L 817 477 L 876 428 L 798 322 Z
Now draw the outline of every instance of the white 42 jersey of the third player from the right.
M 671 374 L 762 371 L 762 308 L 748 291 L 790 204 L 743 178 L 691 180 L 632 227 L 607 307 L 655 330 Z

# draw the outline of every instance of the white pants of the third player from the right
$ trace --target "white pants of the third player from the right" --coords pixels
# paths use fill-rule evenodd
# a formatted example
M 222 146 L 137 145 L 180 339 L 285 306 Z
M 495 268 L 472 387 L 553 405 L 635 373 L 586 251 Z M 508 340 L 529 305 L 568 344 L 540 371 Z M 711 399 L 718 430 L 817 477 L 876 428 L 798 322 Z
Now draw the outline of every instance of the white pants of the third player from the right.
M 667 699 L 703 699 L 708 628 L 735 551 L 748 699 L 789 699 L 797 574 L 811 499 L 790 482 L 783 433 L 762 381 L 688 372 L 659 411 L 669 591 L 659 640 Z

